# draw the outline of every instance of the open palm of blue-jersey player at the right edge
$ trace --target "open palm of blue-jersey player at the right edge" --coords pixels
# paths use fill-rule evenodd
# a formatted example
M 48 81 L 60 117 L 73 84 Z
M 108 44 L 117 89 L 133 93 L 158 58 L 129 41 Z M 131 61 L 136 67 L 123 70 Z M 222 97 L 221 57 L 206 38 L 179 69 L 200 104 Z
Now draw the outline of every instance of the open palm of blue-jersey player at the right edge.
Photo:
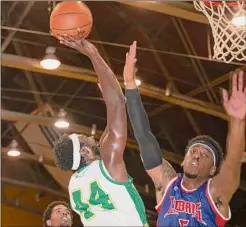
M 222 89 L 223 105 L 227 114 L 235 119 L 244 120 L 246 116 L 246 89 L 244 87 L 244 72 L 232 76 L 232 92 Z

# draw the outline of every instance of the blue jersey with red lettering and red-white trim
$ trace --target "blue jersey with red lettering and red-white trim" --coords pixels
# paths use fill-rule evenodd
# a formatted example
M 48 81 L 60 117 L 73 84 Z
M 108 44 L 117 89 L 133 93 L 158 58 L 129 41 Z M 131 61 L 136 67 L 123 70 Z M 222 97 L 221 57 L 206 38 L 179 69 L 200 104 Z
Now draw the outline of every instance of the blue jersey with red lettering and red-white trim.
M 230 219 L 220 214 L 209 193 L 210 180 L 194 190 L 186 189 L 183 174 L 172 179 L 156 206 L 157 227 L 223 227 Z

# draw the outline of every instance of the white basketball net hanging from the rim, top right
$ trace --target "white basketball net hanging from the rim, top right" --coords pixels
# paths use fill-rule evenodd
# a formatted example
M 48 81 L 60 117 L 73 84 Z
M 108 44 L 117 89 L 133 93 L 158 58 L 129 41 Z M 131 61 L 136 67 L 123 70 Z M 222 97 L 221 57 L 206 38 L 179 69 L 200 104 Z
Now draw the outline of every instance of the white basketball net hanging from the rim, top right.
M 193 1 L 208 18 L 214 38 L 213 58 L 230 63 L 246 61 L 246 2 Z

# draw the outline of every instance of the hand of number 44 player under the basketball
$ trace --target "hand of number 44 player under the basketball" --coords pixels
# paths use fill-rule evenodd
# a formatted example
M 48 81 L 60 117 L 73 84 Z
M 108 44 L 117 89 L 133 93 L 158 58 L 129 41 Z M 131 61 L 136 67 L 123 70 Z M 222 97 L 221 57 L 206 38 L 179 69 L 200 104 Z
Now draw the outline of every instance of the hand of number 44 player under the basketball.
M 79 29 L 78 29 L 78 34 L 80 34 Z M 69 35 L 63 35 L 60 36 L 59 39 L 61 44 L 64 44 L 68 47 L 78 50 L 79 52 L 87 56 L 91 56 L 98 52 L 97 48 L 92 43 L 85 40 L 84 38 L 78 38 L 78 37 L 83 37 L 83 36 L 78 35 L 76 37 L 73 37 Z

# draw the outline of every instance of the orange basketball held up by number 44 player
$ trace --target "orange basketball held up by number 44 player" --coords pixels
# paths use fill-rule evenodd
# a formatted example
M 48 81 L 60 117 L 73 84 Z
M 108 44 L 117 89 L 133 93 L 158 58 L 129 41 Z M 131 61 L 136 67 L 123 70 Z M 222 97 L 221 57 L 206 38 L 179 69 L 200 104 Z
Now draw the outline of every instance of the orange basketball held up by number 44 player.
M 61 2 L 50 15 L 50 30 L 54 36 L 70 35 L 86 38 L 91 31 L 93 18 L 90 9 L 82 2 Z M 78 29 L 81 33 L 78 34 Z

